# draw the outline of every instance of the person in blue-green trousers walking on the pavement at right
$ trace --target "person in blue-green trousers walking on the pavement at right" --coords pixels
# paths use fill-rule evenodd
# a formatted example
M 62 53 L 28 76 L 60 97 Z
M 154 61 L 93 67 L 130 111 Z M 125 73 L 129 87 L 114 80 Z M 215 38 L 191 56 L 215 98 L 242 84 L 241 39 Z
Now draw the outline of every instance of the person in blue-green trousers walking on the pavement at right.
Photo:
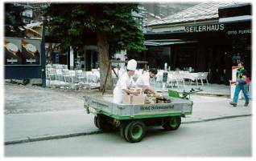
M 230 104 L 233 105 L 233 107 L 237 107 L 238 95 L 240 91 L 242 91 L 246 99 L 246 103 L 244 106 L 247 107 L 249 104 L 248 84 L 250 83 L 250 78 L 249 78 L 248 72 L 244 68 L 243 62 L 238 62 L 237 65 L 238 65 L 238 69 L 237 69 L 236 89 L 233 96 L 233 102 L 231 102 Z

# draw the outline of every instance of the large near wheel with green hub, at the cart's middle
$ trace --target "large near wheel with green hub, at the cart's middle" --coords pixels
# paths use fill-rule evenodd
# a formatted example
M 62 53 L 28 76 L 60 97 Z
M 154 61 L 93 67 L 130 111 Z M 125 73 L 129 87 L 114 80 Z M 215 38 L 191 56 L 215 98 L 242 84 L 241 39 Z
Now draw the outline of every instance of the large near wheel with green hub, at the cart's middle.
M 130 143 L 138 143 L 146 134 L 146 125 L 141 120 L 132 121 L 125 128 L 126 140 Z

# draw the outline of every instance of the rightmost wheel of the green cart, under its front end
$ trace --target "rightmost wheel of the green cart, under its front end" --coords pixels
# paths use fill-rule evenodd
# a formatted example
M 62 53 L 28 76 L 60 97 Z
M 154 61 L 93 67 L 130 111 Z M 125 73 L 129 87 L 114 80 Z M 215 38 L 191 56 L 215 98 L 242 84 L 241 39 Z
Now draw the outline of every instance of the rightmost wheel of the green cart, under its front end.
M 180 116 L 172 116 L 163 119 L 163 128 L 167 131 L 175 131 L 180 127 L 181 119 Z

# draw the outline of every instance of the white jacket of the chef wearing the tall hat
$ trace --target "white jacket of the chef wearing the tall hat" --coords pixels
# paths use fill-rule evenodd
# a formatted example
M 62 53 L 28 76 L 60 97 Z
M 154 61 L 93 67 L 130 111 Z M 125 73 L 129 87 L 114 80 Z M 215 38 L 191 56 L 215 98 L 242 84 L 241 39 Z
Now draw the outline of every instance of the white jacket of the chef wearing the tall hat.
M 113 103 L 122 103 L 122 97 L 125 94 L 125 91 L 122 90 L 134 86 L 134 79 L 129 77 L 127 72 L 122 74 L 122 76 L 118 79 L 118 83 L 113 91 Z

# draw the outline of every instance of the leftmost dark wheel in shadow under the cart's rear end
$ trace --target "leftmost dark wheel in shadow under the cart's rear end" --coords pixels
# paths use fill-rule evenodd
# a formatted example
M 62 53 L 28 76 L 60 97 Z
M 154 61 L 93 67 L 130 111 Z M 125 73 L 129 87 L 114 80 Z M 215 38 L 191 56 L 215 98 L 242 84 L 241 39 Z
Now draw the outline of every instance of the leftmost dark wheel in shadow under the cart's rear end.
M 109 119 L 107 119 L 104 115 L 97 115 L 94 117 L 94 124 L 96 127 L 101 129 L 102 131 L 109 132 L 113 131 L 113 126 L 109 123 Z

